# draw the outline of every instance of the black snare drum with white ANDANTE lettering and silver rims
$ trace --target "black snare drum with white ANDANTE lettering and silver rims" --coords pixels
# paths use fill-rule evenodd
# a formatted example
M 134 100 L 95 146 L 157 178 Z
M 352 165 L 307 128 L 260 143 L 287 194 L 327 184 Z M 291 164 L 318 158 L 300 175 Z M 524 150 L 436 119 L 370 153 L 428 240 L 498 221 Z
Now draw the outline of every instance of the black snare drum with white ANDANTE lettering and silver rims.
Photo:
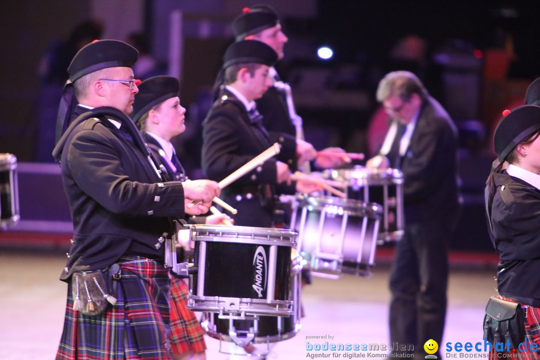
M 295 231 L 247 226 L 187 226 L 194 243 L 187 308 L 289 316 Z

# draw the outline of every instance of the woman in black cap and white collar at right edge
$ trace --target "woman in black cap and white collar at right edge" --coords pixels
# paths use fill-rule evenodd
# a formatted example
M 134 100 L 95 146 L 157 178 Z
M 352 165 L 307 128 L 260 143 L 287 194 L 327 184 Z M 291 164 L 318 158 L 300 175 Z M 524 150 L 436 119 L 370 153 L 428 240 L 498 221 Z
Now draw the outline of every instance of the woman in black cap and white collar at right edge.
M 540 107 L 524 105 L 504 115 L 494 135 L 500 164 L 486 189 L 489 227 L 500 256 L 497 287 L 503 299 L 527 305 L 527 344 L 539 344 L 540 276 L 534 274 L 540 270 Z M 530 358 L 537 358 L 534 354 Z

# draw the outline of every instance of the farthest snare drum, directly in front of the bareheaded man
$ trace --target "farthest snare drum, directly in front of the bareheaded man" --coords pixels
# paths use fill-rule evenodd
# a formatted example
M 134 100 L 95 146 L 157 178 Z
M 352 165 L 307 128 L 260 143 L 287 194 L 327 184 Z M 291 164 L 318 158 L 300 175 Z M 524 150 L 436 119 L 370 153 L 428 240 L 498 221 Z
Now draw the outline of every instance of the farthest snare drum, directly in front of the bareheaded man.
M 347 198 L 379 203 L 383 218 L 379 243 L 399 241 L 404 234 L 403 224 L 403 173 L 398 169 L 370 169 L 355 166 L 352 169 L 328 170 L 327 179 L 348 184 Z

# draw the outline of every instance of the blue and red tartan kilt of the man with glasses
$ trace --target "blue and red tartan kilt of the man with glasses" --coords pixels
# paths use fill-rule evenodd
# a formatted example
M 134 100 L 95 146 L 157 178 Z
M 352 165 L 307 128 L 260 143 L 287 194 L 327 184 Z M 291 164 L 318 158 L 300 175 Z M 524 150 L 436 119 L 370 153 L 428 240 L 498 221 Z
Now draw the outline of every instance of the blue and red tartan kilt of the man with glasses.
M 143 257 L 122 258 L 133 261 Z M 120 263 L 117 303 L 105 313 L 73 310 L 71 281 L 57 360 L 171 360 L 168 269 L 153 260 Z

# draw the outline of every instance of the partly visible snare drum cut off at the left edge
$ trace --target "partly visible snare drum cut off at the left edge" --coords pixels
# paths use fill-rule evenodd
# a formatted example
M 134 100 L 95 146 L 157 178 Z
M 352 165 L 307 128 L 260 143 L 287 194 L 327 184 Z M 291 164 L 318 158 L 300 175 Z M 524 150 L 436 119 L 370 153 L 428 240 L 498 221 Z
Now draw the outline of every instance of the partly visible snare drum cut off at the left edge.
M 0 154 L 0 228 L 13 225 L 19 218 L 17 157 Z

